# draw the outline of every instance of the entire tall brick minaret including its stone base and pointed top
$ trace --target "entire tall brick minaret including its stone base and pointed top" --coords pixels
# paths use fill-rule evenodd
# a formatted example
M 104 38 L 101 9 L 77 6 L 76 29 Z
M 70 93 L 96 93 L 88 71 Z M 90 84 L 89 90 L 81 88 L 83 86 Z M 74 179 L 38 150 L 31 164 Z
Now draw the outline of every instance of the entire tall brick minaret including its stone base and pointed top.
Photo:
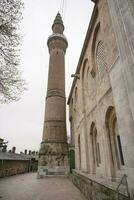
M 68 42 L 63 35 L 64 25 L 59 13 L 52 30 L 53 34 L 47 41 L 50 58 L 39 177 L 68 173 L 65 99 L 65 53 Z

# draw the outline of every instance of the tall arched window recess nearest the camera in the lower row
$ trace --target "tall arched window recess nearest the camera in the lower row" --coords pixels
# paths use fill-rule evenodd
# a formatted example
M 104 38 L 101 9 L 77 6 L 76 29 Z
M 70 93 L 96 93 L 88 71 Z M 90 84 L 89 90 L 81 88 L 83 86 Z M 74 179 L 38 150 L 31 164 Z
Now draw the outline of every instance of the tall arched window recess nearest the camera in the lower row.
M 116 170 L 124 165 L 122 145 L 118 133 L 118 124 L 114 107 L 110 106 L 106 112 L 106 128 L 110 153 L 111 175 L 116 176 Z

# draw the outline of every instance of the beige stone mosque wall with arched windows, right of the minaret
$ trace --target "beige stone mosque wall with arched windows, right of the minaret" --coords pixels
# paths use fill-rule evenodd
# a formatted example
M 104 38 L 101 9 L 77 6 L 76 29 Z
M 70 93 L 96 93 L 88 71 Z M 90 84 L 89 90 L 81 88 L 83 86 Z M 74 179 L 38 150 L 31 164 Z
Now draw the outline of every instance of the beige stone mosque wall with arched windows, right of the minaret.
M 116 23 L 121 23 L 118 16 L 120 10 L 114 10 L 116 15 L 112 10 L 113 5 L 117 5 L 114 4 L 116 1 L 120 2 L 120 0 L 95 1 L 76 69 L 77 77 L 74 78 L 68 99 L 71 145 L 75 149 L 76 170 L 115 182 L 120 182 L 126 174 L 129 188 L 133 191 L 134 118 L 131 106 L 134 90 L 131 87 L 130 91 L 132 81 L 130 72 L 134 60 L 130 59 L 126 65 L 130 57 L 127 52 L 124 53 L 126 59 L 123 60 L 121 47 L 125 47 L 120 45 L 122 41 L 118 35 L 119 30 L 116 33 Z M 125 2 L 128 6 L 128 0 Z M 124 7 L 122 9 L 127 10 L 124 10 L 124 20 L 126 20 L 124 23 L 130 19 L 127 26 L 132 26 L 132 16 L 127 13 L 130 7 Z M 125 16 L 125 13 L 128 15 Z M 128 38 L 131 36 L 132 39 L 131 31 L 132 28 L 129 29 L 126 38 L 122 36 L 126 46 Z M 120 32 L 123 34 L 121 27 Z M 134 52 L 133 49 L 134 45 L 131 46 L 130 53 Z

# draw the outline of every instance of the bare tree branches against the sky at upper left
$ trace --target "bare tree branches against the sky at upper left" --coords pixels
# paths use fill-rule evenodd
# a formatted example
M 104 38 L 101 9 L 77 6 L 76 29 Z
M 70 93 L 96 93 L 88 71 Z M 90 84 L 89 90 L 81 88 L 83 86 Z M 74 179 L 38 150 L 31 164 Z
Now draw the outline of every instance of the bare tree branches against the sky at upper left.
M 0 0 L 0 102 L 18 100 L 25 89 L 19 69 L 21 0 Z

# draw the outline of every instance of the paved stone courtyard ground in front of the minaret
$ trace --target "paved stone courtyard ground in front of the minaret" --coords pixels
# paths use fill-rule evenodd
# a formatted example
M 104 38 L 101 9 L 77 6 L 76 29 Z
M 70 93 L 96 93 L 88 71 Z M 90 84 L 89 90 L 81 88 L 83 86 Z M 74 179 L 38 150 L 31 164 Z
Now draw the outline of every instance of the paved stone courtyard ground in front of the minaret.
M 0 179 L 1 200 L 85 200 L 65 177 L 36 179 L 36 173 Z

